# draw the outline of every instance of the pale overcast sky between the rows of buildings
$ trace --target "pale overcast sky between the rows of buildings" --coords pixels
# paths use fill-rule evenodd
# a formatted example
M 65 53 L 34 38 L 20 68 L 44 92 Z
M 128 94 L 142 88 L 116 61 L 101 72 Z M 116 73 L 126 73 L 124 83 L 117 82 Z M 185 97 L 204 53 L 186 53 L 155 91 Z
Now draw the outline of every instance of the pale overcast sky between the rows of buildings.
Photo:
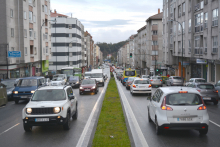
M 51 0 L 51 9 L 79 19 L 96 42 L 124 41 L 162 11 L 163 0 Z

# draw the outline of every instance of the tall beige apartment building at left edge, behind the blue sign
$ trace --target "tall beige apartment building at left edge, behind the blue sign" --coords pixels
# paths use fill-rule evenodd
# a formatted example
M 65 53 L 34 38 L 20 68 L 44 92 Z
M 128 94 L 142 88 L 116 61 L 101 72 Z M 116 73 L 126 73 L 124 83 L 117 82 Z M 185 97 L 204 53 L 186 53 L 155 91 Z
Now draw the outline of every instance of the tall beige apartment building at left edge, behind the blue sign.
M 6 78 L 7 71 L 8 78 L 47 72 L 50 0 L 4 0 L 0 10 L 0 77 Z M 8 51 L 20 51 L 21 58 L 7 58 Z

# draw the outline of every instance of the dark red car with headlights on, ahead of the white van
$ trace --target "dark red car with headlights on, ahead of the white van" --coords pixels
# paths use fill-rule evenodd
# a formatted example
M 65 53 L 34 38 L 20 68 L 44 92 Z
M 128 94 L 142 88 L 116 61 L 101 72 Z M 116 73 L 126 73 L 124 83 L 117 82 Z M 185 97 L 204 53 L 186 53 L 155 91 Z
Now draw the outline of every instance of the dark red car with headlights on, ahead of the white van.
M 79 94 L 84 93 L 95 93 L 97 94 L 99 91 L 98 83 L 95 79 L 85 79 L 82 81 L 82 84 L 79 87 Z

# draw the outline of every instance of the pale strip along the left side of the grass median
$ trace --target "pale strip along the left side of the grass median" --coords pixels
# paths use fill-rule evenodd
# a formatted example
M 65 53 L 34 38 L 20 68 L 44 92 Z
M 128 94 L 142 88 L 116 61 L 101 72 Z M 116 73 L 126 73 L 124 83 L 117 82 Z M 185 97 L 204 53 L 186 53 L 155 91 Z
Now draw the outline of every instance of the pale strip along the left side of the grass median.
M 88 121 L 87 121 L 87 123 L 86 123 L 85 128 L 83 129 L 83 132 L 82 132 L 82 134 L 81 134 L 81 136 L 80 136 L 80 138 L 79 138 L 79 141 L 78 141 L 76 147 L 82 147 L 82 146 L 83 146 L 84 139 L 86 138 L 86 134 L 87 134 L 88 131 L 89 131 L 89 126 L 90 126 L 90 124 L 91 124 L 91 122 L 92 122 L 92 118 L 93 118 L 93 116 L 94 116 L 94 114 L 95 114 L 95 111 L 96 111 L 96 109 L 97 109 L 97 105 L 98 105 L 99 101 L 101 100 L 103 93 L 105 93 L 105 91 L 106 91 L 106 89 L 107 89 L 109 80 L 110 80 L 110 78 L 109 78 L 108 81 L 105 83 L 105 87 L 103 88 L 103 90 L 102 90 L 102 92 L 101 92 L 99 98 L 97 99 L 97 101 L 96 101 L 96 103 L 95 103 L 95 106 L 94 106 L 93 109 L 92 109 L 92 112 L 91 112 L 91 114 L 90 114 L 90 116 L 89 116 L 89 119 L 88 119 Z

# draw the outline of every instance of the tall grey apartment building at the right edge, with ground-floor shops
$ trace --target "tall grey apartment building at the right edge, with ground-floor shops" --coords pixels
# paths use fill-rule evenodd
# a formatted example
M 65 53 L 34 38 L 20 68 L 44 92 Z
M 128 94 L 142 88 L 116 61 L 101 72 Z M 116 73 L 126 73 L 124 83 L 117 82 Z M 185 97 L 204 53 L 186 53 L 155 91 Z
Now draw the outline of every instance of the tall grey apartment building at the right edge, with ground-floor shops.
M 170 73 L 180 76 L 183 65 L 186 81 L 220 80 L 219 7 L 218 0 L 163 1 L 163 50 Z

